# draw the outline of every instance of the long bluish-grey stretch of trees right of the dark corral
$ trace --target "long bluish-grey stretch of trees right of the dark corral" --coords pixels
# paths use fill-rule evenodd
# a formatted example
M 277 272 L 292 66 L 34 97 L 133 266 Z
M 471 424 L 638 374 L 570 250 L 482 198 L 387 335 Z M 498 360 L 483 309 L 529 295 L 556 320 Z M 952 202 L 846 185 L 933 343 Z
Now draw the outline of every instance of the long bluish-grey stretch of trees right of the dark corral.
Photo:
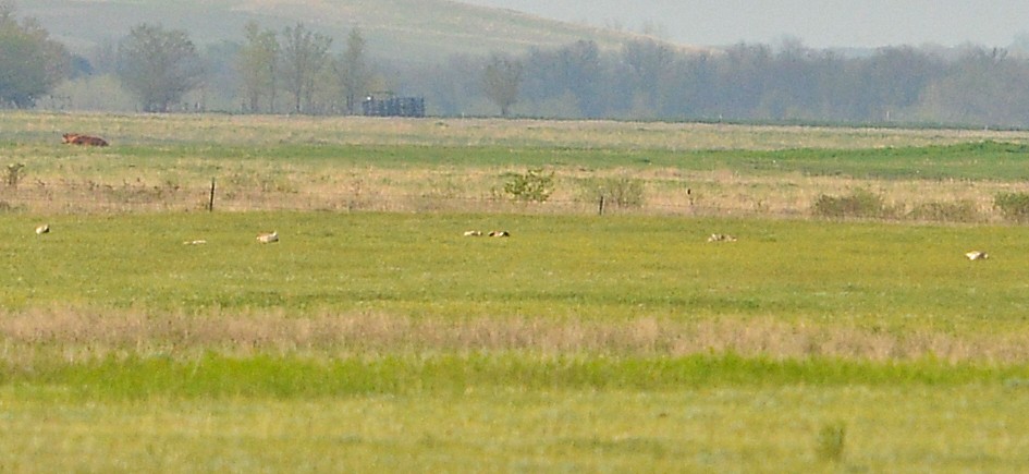
M 973 45 L 847 56 L 799 41 L 686 51 L 644 38 L 615 51 L 577 41 L 505 61 L 522 74 L 503 86 L 463 78 L 476 69 L 503 77 L 495 58 L 455 58 L 402 77 L 444 116 L 1029 126 L 1029 56 Z M 500 100 L 504 89 L 518 94 Z

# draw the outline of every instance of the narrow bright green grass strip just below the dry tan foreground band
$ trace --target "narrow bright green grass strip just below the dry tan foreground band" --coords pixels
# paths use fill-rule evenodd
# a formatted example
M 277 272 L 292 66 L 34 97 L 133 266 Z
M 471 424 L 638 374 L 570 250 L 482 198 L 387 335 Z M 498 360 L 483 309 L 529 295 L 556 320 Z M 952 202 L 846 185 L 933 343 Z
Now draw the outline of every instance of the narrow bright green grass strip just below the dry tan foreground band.
M 192 360 L 108 357 L 69 364 L 40 361 L 12 367 L 0 385 L 48 387 L 89 400 L 150 398 L 309 399 L 354 394 L 461 393 L 476 388 L 512 390 L 699 390 L 712 387 L 1009 386 L 1021 389 L 1029 365 L 995 367 L 922 360 L 867 363 L 829 358 L 774 361 L 735 354 L 686 357 L 535 356 L 525 353 L 303 356 Z

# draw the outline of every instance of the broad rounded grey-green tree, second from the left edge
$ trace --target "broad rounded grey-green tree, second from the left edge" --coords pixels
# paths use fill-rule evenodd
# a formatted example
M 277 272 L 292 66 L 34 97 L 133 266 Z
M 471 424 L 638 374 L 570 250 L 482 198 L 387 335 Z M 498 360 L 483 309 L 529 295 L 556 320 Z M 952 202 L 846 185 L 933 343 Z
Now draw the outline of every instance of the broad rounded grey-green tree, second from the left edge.
M 167 112 L 200 84 L 203 63 L 183 31 L 142 24 L 118 47 L 118 76 L 146 112 Z

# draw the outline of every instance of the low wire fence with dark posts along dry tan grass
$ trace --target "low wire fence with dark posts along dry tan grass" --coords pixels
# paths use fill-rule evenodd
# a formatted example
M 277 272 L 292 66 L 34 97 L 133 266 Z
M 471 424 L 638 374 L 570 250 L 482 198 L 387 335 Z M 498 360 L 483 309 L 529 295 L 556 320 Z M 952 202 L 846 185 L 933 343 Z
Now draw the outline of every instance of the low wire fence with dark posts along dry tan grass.
M 217 179 L 183 185 L 142 181 L 106 184 L 93 181 L 23 181 L 0 183 L 0 212 L 40 215 L 195 212 L 195 211 L 383 211 L 383 212 L 463 212 L 538 215 L 640 215 L 678 217 L 770 217 L 804 219 L 812 217 L 858 218 L 928 222 L 1005 222 L 1010 220 L 991 203 L 934 203 L 928 209 L 868 214 L 820 212 L 818 206 L 762 200 L 701 199 L 697 193 L 654 195 L 621 202 L 616 198 L 583 196 L 553 198 L 542 203 L 513 199 L 505 194 L 467 195 L 467 192 L 409 193 L 395 187 L 368 185 L 298 189 Z

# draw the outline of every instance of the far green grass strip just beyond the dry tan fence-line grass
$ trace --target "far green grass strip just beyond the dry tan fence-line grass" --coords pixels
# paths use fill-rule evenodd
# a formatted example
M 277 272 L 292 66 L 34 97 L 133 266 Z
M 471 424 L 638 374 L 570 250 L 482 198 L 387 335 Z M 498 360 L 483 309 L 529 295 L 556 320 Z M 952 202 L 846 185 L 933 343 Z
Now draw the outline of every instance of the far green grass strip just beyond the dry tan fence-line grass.
M 880 180 L 1019 181 L 1029 179 L 1026 145 L 976 143 L 891 149 L 695 150 L 516 148 L 422 145 L 122 145 L 81 149 L 52 145 L 12 145 L 7 157 L 24 162 L 37 178 L 69 171 L 99 177 L 138 168 L 136 173 L 177 172 L 197 179 L 240 166 L 254 172 L 279 165 L 309 173 L 326 169 L 426 169 L 431 167 L 502 169 L 553 167 L 592 170 L 731 170 L 743 175 L 846 177 Z M 111 171 L 105 171 L 111 170 Z

